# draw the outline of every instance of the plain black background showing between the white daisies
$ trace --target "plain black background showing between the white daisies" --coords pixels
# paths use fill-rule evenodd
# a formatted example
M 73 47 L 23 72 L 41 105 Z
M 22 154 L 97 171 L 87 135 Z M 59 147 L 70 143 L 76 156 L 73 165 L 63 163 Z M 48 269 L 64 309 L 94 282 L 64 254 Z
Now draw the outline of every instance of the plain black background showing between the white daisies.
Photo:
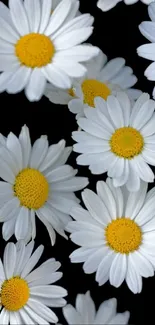
M 7 4 L 7 1 L 3 1 Z M 131 66 L 138 77 L 136 88 L 150 95 L 153 83 L 144 77 L 144 70 L 150 63 L 138 57 L 136 49 L 148 41 L 140 34 L 138 25 L 149 20 L 147 6 L 140 1 L 135 5 L 126 6 L 122 1 L 109 12 L 102 12 L 96 6 L 96 0 L 81 0 L 81 12 L 89 12 L 95 17 L 94 33 L 90 38 L 93 45 L 100 47 L 109 59 L 124 57 L 126 64 Z M 0 95 L 0 132 L 7 135 L 10 131 L 19 135 L 21 127 L 26 124 L 31 133 L 32 142 L 42 134 L 47 134 L 49 142 L 56 143 L 65 139 L 67 145 L 72 145 L 71 132 L 77 129 L 74 115 L 69 112 L 67 106 L 54 105 L 43 97 L 40 102 L 30 103 L 24 93 L 17 95 Z M 76 154 L 69 159 L 70 164 L 76 166 Z M 89 188 L 95 190 L 96 181 L 105 179 L 105 175 L 98 177 L 90 174 L 87 167 L 78 167 L 79 175 L 89 177 Z M 151 186 L 152 187 L 152 186 Z M 80 193 L 78 195 L 80 197 Z M 0 229 L 1 231 L 1 229 Z M 14 240 L 14 238 L 13 238 Z M 2 256 L 5 242 L 0 237 L 0 255 Z M 51 247 L 45 227 L 37 220 L 36 246 L 45 246 L 41 262 L 55 257 L 62 263 L 63 278 L 58 282 L 68 290 L 68 303 L 75 304 L 78 293 L 91 291 L 96 307 L 106 299 L 116 297 L 118 299 L 118 311 L 129 310 L 131 313 L 130 324 L 149 324 L 154 321 L 154 292 L 155 278 L 143 278 L 143 289 L 140 294 L 134 295 L 124 283 L 116 289 L 106 283 L 99 287 L 95 282 L 95 275 L 86 275 L 82 269 L 82 263 L 71 264 L 70 253 L 78 248 L 57 235 L 56 244 Z M 60 309 L 55 310 L 59 322 L 66 324 Z

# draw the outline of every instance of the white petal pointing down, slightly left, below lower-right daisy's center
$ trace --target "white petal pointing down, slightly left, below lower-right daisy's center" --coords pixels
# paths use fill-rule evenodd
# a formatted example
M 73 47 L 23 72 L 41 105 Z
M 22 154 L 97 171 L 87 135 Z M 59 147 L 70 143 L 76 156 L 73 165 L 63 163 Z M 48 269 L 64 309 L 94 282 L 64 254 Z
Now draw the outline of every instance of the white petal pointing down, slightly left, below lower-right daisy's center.
M 110 283 L 118 288 L 124 281 L 127 271 L 127 257 L 125 254 L 117 254 L 110 268 Z

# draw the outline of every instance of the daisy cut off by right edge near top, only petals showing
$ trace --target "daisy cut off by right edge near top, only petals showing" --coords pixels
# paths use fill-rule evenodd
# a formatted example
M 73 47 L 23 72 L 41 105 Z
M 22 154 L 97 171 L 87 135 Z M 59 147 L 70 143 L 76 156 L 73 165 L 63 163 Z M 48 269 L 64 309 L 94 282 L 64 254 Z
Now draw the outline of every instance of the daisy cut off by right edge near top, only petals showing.
M 141 33 L 152 43 L 141 45 L 137 49 L 139 56 L 153 61 L 145 70 L 144 75 L 148 80 L 155 81 L 155 3 L 151 3 L 148 7 L 150 21 L 144 21 L 139 25 Z M 153 98 L 155 98 L 155 87 L 153 89 Z

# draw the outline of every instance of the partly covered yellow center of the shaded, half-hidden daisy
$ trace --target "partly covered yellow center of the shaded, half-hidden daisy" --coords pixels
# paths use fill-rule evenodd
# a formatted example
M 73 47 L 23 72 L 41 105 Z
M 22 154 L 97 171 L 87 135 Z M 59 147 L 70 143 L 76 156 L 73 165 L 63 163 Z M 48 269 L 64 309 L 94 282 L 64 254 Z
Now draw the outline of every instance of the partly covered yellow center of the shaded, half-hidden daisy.
M 88 104 L 91 107 L 94 106 L 94 98 L 99 96 L 103 99 L 111 94 L 111 90 L 107 87 L 106 84 L 95 80 L 95 79 L 86 79 L 82 83 L 82 91 L 84 94 L 84 103 Z

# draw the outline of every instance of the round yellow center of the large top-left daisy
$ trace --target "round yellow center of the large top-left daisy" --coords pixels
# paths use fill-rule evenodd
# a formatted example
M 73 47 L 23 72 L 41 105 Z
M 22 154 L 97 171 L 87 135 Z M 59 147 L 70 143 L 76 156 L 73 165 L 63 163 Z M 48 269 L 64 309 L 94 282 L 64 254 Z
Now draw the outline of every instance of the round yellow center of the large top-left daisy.
M 40 68 L 52 61 L 55 48 L 46 35 L 30 33 L 18 40 L 15 45 L 15 53 L 23 65 Z

